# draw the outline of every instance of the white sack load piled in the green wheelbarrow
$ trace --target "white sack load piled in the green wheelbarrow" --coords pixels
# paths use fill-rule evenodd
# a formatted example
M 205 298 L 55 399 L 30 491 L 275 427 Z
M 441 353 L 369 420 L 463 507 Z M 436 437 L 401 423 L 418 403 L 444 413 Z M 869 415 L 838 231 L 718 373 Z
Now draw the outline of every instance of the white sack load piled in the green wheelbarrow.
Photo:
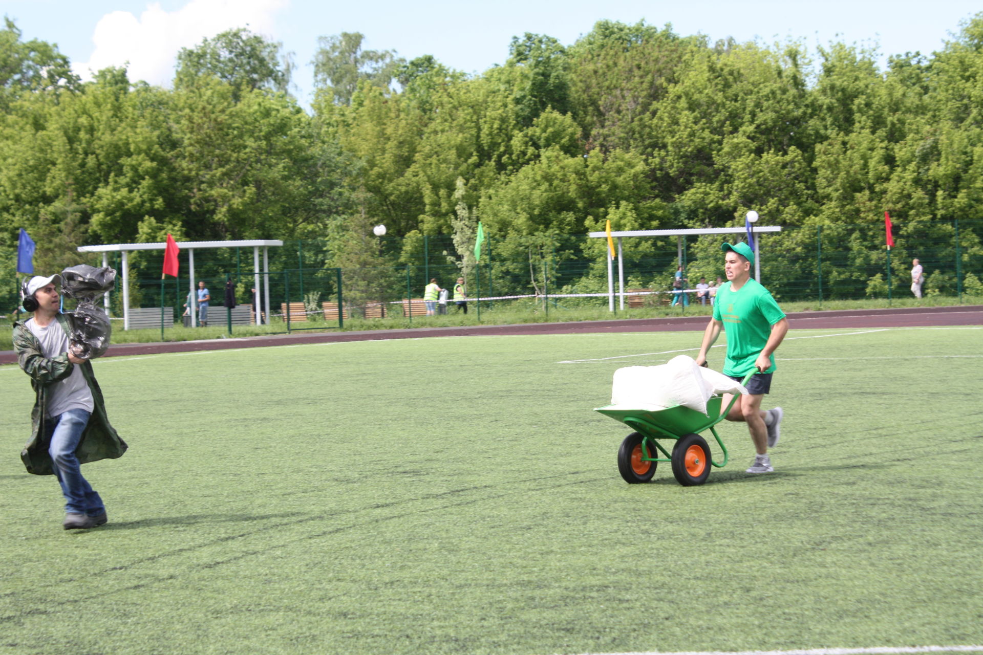
M 747 389 L 723 373 L 696 365 L 679 355 L 662 366 L 626 366 L 614 371 L 611 405 L 631 409 L 665 409 L 673 405 L 707 413 L 714 394 L 746 394 Z

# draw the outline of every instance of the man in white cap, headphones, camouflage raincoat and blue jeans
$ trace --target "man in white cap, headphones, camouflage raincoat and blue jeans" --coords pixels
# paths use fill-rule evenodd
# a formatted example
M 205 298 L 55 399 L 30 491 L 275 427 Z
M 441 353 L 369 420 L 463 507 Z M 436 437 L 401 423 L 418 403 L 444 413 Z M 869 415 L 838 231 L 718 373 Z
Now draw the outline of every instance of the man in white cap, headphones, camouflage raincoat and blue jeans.
M 106 507 L 82 474 L 82 464 L 115 459 L 127 445 L 106 417 L 92 364 L 75 355 L 68 333 L 75 316 L 59 311 L 61 276 L 34 276 L 24 285 L 33 316 L 14 323 L 14 349 L 34 388 L 31 434 L 21 453 L 29 473 L 57 479 L 65 497 L 66 530 L 106 522 Z

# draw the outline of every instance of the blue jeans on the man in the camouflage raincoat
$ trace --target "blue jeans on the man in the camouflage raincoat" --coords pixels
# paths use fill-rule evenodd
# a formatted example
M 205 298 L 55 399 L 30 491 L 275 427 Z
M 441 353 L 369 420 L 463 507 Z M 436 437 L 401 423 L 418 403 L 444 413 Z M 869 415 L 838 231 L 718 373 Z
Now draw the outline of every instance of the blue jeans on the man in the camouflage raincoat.
M 54 463 L 55 476 L 65 496 L 65 512 L 97 517 L 106 508 L 99 494 L 82 476 L 82 466 L 75 456 L 90 415 L 85 409 L 69 409 L 48 418 L 45 423 L 47 436 L 51 439 L 48 455 Z

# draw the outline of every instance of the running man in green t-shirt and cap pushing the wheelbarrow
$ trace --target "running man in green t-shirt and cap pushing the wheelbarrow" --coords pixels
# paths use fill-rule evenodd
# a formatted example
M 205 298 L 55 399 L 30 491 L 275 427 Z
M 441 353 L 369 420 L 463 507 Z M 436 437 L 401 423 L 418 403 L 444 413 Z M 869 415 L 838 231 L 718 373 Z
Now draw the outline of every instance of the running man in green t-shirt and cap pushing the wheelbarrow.
M 723 374 L 743 380 L 752 370 L 758 372 L 748 381 L 748 394 L 741 396 L 727 413 L 727 420 L 745 421 L 757 452 L 749 473 L 775 470 L 768 448 L 779 443 L 781 408 L 761 410 L 761 401 L 772 387 L 775 350 L 788 332 L 788 319 L 767 289 L 751 277 L 754 252 L 747 244 L 724 244 L 723 270 L 727 282 L 717 290 L 714 316 L 703 333 L 703 345 L 696 363 L 705 366 L 707 352 L 723 329 L 727 335 L 727 355 Z M 723 405 L 730 402 L 723 397 Z

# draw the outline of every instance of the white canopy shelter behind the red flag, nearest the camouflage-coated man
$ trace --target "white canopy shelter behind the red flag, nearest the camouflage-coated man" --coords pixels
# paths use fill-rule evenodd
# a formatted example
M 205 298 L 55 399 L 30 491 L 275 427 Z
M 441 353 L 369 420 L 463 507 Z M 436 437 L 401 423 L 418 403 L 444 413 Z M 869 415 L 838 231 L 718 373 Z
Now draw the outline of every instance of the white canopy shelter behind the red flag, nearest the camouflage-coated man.
M 79 246 L 79 252 L 101 252 L 102 265 L 107 266 L 107 252 L 123 253 L 123 329 L 130 329 L 130 264 L 128 254 L 130 250 L 163 250 L 167 244 L 107 244 L 103 246 Z M 260 289 L 262 290 L 262 304 L 266 307 L 265 318 L 269 323 L 269 246 L 283 246 L 282 241 L 192 241 L 178 242 L 181 250 L 188 250 L 188 273 L 190 275 L 189 293 L 191 294 L 191 324 L 198 325 L 198 294 L 195 293 L 195 250 L 207 247 L 252 247 L 253 248 L 253 270 L 256 277 L 256 322 L 262 322 L 263 312 L 260 310 Z M 262 248 L 262 274 L 260 276 L 260 247 Z M 260 282 L 262 286 L 260 287 Z M 106 310 L 109 310 L 109 294 L 105 296 Z

